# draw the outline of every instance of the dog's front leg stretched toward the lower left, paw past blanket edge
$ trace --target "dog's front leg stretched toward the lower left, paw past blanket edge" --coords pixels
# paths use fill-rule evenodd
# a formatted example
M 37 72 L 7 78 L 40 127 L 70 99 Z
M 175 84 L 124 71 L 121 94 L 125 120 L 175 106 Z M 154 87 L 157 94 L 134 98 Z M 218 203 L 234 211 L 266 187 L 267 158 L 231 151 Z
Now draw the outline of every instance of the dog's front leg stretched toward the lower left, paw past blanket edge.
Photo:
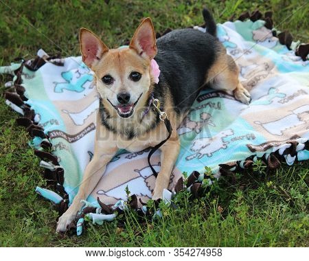
M 80 184 L 78 194 L 76 194 L 73 199 L 73 203 L 58 220 L 56 229 L 58 233 L 65 232 L 67 230 L 67 226 L 72 222 L 72 220 L 74 220 L 74 218 L 76 218 L 76 213 L 82 208 L 82 203 L 80 201 L 82 199 L 87 200 L 89 194 L 91 194 L 95 186 L 100 181 L 107 163 L 113 159 L 116 152 L 117 148 L 106 148 L 106 142 L 102 142 L 101 144 L 100 141 L 95 141 L 95 152 L 93 159 L 84 171 L 82 183 Z

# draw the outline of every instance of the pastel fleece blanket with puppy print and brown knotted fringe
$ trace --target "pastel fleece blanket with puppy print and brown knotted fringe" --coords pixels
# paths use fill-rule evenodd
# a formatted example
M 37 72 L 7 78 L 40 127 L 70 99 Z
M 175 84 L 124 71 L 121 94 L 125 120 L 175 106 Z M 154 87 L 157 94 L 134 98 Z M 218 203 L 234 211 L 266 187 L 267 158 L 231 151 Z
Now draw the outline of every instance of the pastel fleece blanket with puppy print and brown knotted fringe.
M 240 67 L 240 80 L 252 101 L 242 104 L 213 89 L 198 95 L 177 130 L 181 152 L 170 192 L 179 186 L 183 173 L 193 172 L 194 181 L 203 181 L 205 166 L 219 176 L 250 168 L 258 159 L 269 168 L 276 168 L 282 160 L 292 165 L 309 159 L 309 62 L 290 50 L 299 43 L 282 45 L 264 25 L 265 21 L 250 19 L 218 24 L 218 38 Z M 6 84 L 12 89 L 5 94 L 6 102 L 22 114 L 19 123 L 34 137 L 30 146 L 43 159 L 45 177 L 55 191 L 36 188 L 36 192 L 56 203 L 61 213 L 78 192 L 84 168 L 93 157 L 98 110 L 93 73 L 80 56 L 49 57 L 43 50 L 34 60 L 1 67 L 0 73 L 14 76 Z M 149 151 L 119 151 L 102 173 L 87 206 L 123 205 L 119 200 L 126 201 L 128 194 L 141 198 L 137 207 L 148 201 L 155 185 L 147 162 Z M 157 172 L 159 155 L 158 151 L 152 156 Z

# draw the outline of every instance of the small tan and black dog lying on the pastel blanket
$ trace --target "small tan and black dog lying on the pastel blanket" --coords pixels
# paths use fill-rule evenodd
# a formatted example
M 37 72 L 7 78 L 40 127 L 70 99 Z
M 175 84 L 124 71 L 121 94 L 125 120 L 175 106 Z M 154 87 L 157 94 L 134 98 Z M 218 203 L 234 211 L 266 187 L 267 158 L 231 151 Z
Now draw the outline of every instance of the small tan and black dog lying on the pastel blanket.
M 155 146 L 168 137 L 157 111 L 150 109 L 152 97 L 159 100 L 172 125 L 170 139 L 161 146 L 161 170 L 152 199 L 162 197 L 179 155 L 177 128 L 190 111 L 205 84 L 234 95 L 249 104 L 249 92 L 238 80 L 239 69 L 216 38 L 216 23 L 203 10 L 207 32 L 193 28 L 173 30 L 157 39 L 150 18 L 141 22 L 128 47 L 108 49 L 98 36 L 80 29 L 83 62 L 94 71 L 100 94 L 95 149 L 67 212 L 58 220 L 57 232 L 66 231 L 102 177 L 117 150 L 130 152 Z M 159 82 L 152 73 L 152 60 L 161 71 Z

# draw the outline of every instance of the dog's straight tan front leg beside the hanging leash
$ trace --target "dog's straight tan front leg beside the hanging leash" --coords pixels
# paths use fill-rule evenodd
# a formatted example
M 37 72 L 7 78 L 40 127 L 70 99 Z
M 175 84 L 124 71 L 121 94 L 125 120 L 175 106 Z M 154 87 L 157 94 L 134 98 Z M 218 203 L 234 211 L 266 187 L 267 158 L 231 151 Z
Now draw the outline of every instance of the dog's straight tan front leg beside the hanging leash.
M 176 128 L 174 128 L 176 130 Z M 176 131 L 172 131 L 172 135 L 168 141 L 160 148 L 161 150 L 161 170 L 155 183 L 155 190 L 152 199 L 162 198 L 163 190 L 168 188 L 170 183 L 170 174 L 174 168 L 174 164 L 179 155 L 180 142 Z

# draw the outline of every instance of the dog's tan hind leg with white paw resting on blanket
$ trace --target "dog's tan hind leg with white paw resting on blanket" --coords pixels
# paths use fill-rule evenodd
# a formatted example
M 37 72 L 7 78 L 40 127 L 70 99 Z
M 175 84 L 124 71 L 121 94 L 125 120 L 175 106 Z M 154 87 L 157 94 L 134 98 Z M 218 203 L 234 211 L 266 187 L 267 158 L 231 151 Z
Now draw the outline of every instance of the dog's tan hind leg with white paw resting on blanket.
M 207 82 L 212 83 L 213 89 L 226 91 L 244 104 L 249 104 L 251 101 L 249 91 L 244 89 L 239 81 L 238 66 L 228 54 L 223 52 L 219 54 L 216 63 L 209 70 Z

